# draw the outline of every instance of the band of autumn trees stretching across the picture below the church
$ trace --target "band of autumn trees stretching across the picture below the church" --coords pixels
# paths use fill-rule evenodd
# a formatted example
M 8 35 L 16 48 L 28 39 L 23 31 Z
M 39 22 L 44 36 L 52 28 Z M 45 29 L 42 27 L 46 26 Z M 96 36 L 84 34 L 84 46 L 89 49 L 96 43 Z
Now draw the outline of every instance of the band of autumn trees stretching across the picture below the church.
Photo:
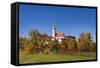
M 48 40 L 47 34 L 41 34 L 38 30 L 32 30 L 28 37 L 19 37 L 19 52 L 22 54 L 52 54 L 68 52 L 95 52 L 96 43 L 90 33 L 83 32 L 79 38 L 66 37 L 61 43 L 57 40 Z

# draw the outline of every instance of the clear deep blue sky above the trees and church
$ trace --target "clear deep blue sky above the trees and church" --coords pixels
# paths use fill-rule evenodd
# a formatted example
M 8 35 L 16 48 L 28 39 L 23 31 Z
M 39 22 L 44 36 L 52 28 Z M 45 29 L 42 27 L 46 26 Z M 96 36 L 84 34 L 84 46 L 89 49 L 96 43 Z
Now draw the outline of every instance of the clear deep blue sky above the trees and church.
M 52 35 L 55 24 L 57 32 L 79 37 L 90 32 L 96 37 L 96 9 L 79 7 L 57 7 L 40 5 L 19 5 L 19 35 L 27 36 L 32 29 Z

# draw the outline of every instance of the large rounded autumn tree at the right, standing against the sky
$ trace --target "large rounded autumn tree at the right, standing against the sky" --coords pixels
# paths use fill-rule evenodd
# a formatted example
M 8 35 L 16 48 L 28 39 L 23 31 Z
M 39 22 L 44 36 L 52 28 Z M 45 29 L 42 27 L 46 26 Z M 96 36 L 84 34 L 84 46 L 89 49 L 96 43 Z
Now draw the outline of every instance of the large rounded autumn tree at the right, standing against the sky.
M 92 42 L 92 36 L 88 32 L 81 33 L 78 38 L 78 46 L 81 51 L 90 51 Z

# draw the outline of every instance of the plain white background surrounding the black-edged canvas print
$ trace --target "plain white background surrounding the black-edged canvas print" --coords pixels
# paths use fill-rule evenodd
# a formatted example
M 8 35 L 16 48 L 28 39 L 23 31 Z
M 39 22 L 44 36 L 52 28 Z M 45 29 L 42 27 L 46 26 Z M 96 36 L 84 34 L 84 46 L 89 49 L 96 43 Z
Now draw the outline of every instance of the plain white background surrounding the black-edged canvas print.
M 10 64 L 10 4 L 16 0 L 0 0 L 0 68 L 16 68 Z M 98 6 L 100 12 L 99 0 L 17 0 L 25 2 L 38 3 L 54 3 L 54 4 L 69 4 L 69 5 L 87 5 Z M 100 13 L 98 13 L 98 19 Z M 98 20 L 98 26 L 100 20 Z M 98 27 L 100 29 L 100 27 Z M 100 41 L 100 31 L 98 31 L 98 41 Z M 98 42 L 99 43 L 99 42 Z M 100 43 L 99 43 L 100 44 Z M 98 45 L 98 52 L 100 46 Z M 82 62 L 82 63 L 64 63 L 64 64 L 50 64 L 50 65 L 31 65 L 21 66 L 19 68 L 99 68 L 100 53 L 98 54 L 98 62 Z

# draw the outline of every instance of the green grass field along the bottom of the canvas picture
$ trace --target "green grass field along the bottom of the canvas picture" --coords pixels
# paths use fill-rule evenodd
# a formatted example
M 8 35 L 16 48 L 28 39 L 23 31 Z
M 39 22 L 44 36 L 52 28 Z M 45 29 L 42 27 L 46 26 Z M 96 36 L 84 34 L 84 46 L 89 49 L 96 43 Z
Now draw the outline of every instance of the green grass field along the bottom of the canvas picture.
M 19 64 L 57 62 L 57 61 L 77 61 L 77 60 L 95 60 L 95 53 L 81 54 L 30 54 L 19 55 Z

